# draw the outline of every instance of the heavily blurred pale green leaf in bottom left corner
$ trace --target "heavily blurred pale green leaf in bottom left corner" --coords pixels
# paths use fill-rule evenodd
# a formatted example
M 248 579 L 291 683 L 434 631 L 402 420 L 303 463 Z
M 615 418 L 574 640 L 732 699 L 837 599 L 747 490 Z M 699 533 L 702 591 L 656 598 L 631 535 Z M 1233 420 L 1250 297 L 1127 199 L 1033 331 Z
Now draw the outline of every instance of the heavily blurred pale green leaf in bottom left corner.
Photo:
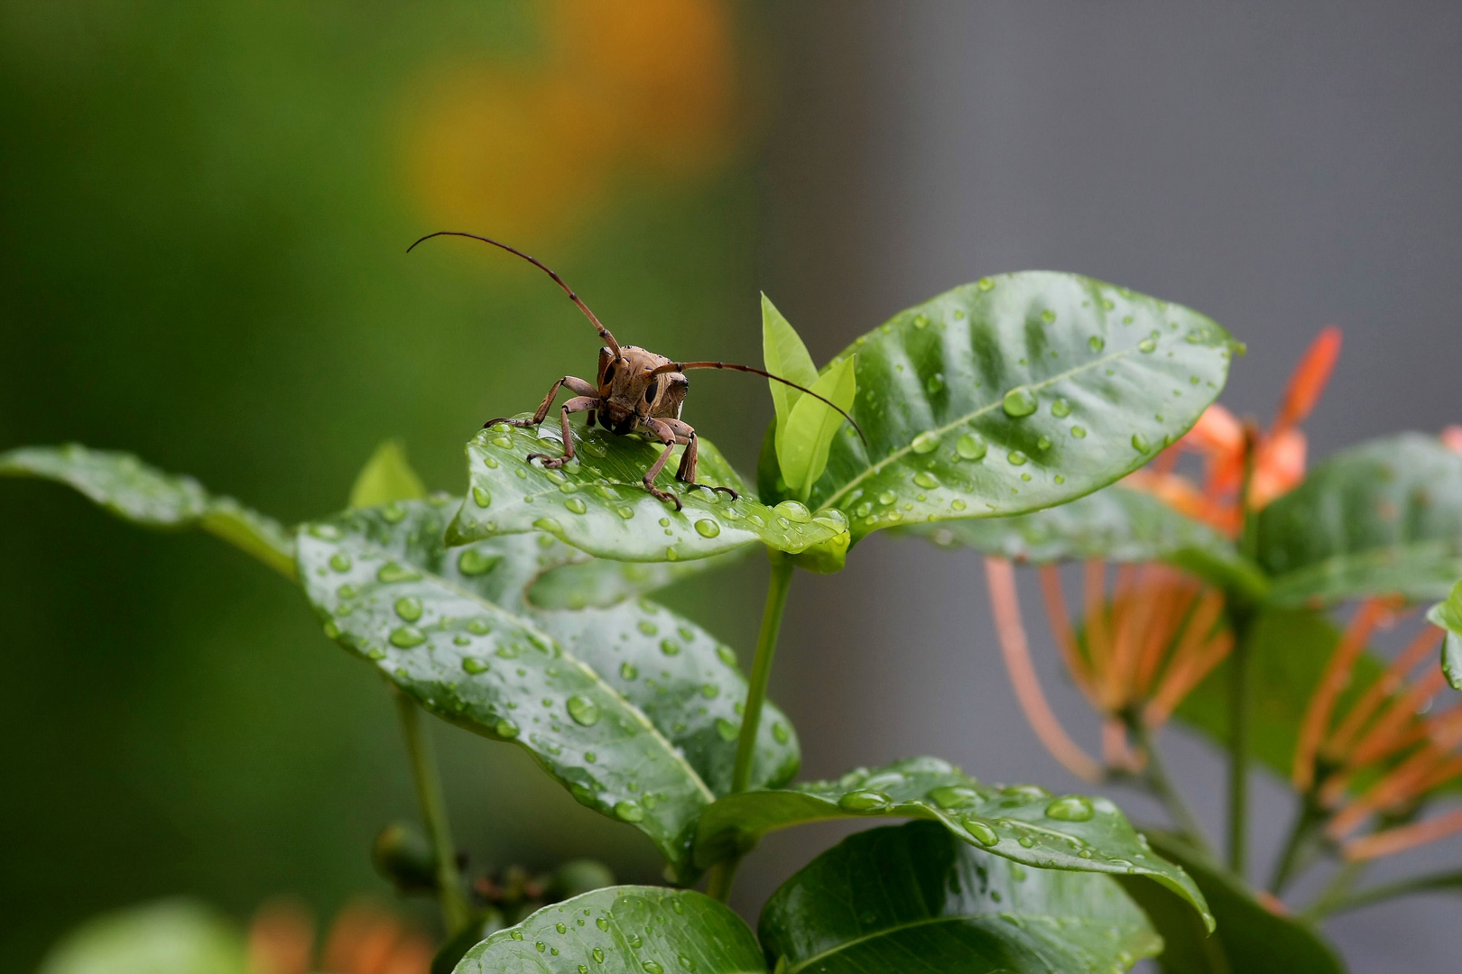
M 88 920 L 67 933 L 38 974 L 246 974 L 244 939 L 190 900 L 162 900 Z

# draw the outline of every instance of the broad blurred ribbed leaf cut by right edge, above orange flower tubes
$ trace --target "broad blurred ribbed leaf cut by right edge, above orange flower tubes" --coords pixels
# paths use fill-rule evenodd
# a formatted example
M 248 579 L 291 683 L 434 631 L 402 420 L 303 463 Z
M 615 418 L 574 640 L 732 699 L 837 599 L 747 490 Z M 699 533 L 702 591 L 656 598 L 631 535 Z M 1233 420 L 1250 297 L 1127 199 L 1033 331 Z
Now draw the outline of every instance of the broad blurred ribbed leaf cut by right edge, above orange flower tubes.
M 1344 450 L 1259 515 L 1279 605 L 1444 599 L 1462 575 L 1462 456 L 1402 434 Z

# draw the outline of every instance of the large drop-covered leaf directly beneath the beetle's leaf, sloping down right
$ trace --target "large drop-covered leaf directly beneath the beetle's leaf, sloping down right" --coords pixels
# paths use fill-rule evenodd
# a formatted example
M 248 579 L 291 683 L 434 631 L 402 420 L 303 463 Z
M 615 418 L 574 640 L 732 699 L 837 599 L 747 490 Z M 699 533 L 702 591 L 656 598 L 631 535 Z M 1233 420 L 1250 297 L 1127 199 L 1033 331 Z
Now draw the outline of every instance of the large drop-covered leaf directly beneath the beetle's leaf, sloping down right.
M 520 615 L 528 581 L 563 546 L 513 536 L 449 552 L 449 510 L 393 502 L 300 533 L 300 577 L 326 634 L 444 720 L 526 748 L 689 879 L 694 821 L 716 794 L 708 780 L 730 783 L 746 697 L 735 656 L 649 602 Z M 785 780 L 795 739 L 775 711 L 763 727 L 753 777 Z

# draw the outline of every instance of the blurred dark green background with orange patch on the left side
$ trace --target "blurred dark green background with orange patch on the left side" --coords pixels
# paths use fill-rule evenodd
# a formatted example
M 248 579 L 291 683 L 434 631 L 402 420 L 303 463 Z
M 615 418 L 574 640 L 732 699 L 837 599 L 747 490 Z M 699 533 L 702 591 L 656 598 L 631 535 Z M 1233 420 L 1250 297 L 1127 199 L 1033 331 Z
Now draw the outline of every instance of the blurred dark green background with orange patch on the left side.
M 341 507 L 386 437 L 461 489 L 474 428 L 591 372 L 596 343 L 520 261 L 404 254 L 443 228 L 547 260 L 620 340 L 759 361 L 753 20 L 718 0 L 0 6 L 0 448 L 132 450 L 285 521 Z M 750 469 L 760 384 L 694 399 Z M 719 635 L 744 647 L 756 571 L 671 600 L 731 609 Z M 162 894 L 240 919 L 281 892 L 322 914 L 389 895 L 370 840 L 415 818 L 393 713 L 272 572 L 4 480 L 0 613 L 0 970 Z M 436 736 L 474 867 L 658 875 L 516 749 Z

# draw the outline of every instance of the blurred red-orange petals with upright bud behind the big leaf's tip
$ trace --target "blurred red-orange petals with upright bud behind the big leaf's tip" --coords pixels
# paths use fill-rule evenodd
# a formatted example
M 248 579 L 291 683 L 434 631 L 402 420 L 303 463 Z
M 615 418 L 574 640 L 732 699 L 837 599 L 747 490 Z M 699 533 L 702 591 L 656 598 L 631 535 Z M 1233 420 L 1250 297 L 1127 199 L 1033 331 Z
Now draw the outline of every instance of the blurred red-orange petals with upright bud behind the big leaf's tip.
M 1304 479 L 1306 438 L 1298 425 L 1314 410 L 1325 386 L 1341 355 L 1341 330 L 1329 326 L 1320 330 L 1300 364 L 1289 375 L 1268 432 L 1254 432 L 1254 473 L 1249 485 L 1249 508 L 1260 510 L 1291 491 Z M 1244 425 L 1218 403 L 1203 410 L 1193 429 L 1177 447 L 1203 457 L 1203 485 L 1171 472 L 1177 453 L 1127 478 L 1132 486 L 1158 495 L 1190 517 L 1200 518 L 1228 534 L 1237 534 L 1244 524 L 1244 508 L 1238 492 L 1244 482 Z

